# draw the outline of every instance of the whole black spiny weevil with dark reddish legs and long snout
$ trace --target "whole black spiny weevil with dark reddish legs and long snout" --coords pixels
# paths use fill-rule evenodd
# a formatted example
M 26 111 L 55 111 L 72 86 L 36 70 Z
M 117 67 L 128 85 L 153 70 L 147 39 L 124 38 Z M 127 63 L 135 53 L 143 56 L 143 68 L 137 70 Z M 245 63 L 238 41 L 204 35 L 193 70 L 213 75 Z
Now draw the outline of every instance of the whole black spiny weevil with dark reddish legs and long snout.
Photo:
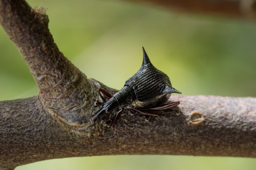
M 158 116 L 158 113 L 152 110 L 167 109 L 180 104 L 179 101 L 165 104 L 172 93 L 181 92 L 172 87 L 166 74 L 153 66 L 144 47 L 142 47 L 142 50 L 143 62 L 140 69 L 134 76 L 126 80 L 120 91 L 112 96 L 102 88 L 99 88 L 99 96 L 103 103 L 95 101 L 96 105 L 102 105 L 102 108 L 91 117 L 92 122 L 97 117 L 120 108 L 112 123 L 113 128 L 125 107 L 129 106 L 142 114 Z M 109 100 L 106 101 L 101 93 Z

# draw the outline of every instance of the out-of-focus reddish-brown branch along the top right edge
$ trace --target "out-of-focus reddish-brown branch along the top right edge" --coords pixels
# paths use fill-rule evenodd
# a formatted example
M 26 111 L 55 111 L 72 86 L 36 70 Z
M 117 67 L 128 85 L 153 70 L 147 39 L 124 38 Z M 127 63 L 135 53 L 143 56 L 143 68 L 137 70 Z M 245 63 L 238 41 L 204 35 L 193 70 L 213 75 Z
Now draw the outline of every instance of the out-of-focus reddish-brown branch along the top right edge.
M 225 16 L 241 19 L 256 19 L 256 1 L 252 0 L 126 0 L 144 2 L 164 8 L 213 16 Z

